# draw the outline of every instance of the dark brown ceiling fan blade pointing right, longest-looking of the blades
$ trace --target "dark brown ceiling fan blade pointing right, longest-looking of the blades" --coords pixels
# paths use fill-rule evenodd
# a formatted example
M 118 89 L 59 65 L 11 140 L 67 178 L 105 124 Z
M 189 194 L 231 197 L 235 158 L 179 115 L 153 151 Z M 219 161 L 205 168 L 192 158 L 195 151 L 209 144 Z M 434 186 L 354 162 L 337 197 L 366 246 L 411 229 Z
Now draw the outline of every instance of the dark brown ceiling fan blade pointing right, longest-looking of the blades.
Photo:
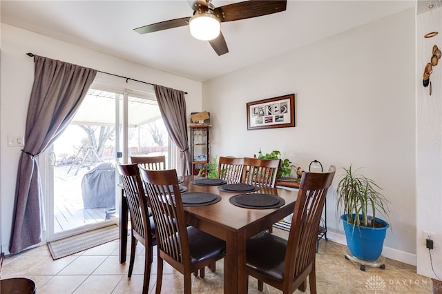
M 218 15 L 220 21 L 224 22 L 261 17 L 262 15 L 285 11 L 286 8 L 287 0 L 251 0 L 220 6 L 213 11 Z

